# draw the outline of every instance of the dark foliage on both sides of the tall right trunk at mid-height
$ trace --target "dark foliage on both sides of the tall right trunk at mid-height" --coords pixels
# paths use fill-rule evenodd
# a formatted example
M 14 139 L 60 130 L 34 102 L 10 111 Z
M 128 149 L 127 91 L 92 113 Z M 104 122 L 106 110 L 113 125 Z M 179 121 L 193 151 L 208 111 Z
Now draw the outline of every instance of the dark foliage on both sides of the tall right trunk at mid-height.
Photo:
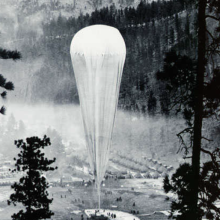
M 164 87 L 159 92 L 161 112 L 175 110 L 176 113 L 182 113 L 189 127 L 193 126 L 195 112 L 196 71 L 195 60 L 170 51 L 165 55 L 163 70 L 156 73 L 157 80 Z M 203 88 L 204 118 L 217 114 L 220 106 L 220 69 L 215 68 L 210 78 Z

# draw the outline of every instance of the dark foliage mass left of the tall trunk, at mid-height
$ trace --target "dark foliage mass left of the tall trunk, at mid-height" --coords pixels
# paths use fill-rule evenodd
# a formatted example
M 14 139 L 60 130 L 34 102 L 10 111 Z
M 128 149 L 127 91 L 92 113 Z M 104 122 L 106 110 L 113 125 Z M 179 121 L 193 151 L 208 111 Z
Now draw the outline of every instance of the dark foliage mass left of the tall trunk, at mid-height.
M 161 111 L 175 109 L 176 113 L 181 112 L 187 123 L 192 126 L 196 61 L 187 56 L 177 55 L 175 51 L 170 51 L 165 55 L 163 71 L 158 71 L 156 77 L 157 80 L 163 82 L 166 91 L 166 93 L 164 90 L 160 92 L 161 107 L 165 108 Z

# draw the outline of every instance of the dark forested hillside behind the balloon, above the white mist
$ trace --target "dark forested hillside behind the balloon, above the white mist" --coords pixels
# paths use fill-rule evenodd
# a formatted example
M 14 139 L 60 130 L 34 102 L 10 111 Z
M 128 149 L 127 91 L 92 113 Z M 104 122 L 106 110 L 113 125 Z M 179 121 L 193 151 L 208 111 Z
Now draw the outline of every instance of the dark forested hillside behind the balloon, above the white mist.
M 127 47 L 119 106 L 145 113 L 154 105 L 152 113 L 160 112 L 155 72 L 162 67 L 164 54 L 172 48 L 177 53 L 195 56 L 195 17 L 194 10 L 185 8 L 181 1 L 151 4 L 141 1 L 137 8 L 118 10 L 112 5 L 78 18 L 60 14 L 57 19 L 42 24 L 41 37 L 33 31 L 18 29 L 23 61 L 34 63 L 41 58 L 40 67 L 28 79 L 28 86 L 18 85 L 21 96 L 28 102 L 78 103 L 69 54 L 72 37 L 88 25 L 107 24 L 120 30 Z M 24 69 L 27 74 L 32 71 L 30 66 Z

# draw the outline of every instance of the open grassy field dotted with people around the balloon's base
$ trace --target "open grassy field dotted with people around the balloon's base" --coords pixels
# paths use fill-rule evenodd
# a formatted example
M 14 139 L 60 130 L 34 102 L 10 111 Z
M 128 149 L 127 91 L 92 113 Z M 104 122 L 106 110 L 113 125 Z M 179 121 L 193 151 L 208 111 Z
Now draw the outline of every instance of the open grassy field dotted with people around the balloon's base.
M 94 185 L 85 186 L 54 186 L 48 189 L 53 203 L 51 209 L 55 215 L 53 220 L 80 220 L 85 209 L 97 208 L 97 193 Z M 106 192 L 111 192 L 107 194 Z M 9 220 L 10 216 L 22 208 L 8 206 L 7 199 L 12 190 L 10 186 L 0 188 L 0 216 L 1 220 Z M 122 201 L 116 201 L 121 197 Z M 101 193 L 101 208 L 125 212 L 135 211 L 141 220 L 166 219 L 162 214 L 147 216 L 155 211 L 169 210 L 170 202 L 162 190 L 162 179 L 110 179 L 105 182 Z M 133 206 L 135 203 L 135 206 Z M 77 211 L 79 211 L 77 213 Z

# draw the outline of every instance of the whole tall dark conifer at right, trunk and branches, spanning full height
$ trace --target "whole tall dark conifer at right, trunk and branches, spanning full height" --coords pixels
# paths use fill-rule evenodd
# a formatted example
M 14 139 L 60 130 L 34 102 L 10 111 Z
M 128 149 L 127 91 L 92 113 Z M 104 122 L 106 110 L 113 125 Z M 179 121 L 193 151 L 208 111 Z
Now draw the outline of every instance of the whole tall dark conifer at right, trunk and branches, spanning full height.
M 193 3 L 197 3 L 198 6 L 198 52 L 197 52 L 197 65 L 195 71 L 195 81 L 194 85 L 189 84 L 189 89 L 185 90 L 190 91 L 189 96 L 187 97 L 186 94 L 183 94 L 180 100 L 176 100 L 178 104 L 183 105 L 184 101 L 188 100 L 188 106 L 190 108 L 185 108 L 187 111 L 184 114 L 188 122 L 190 122 L 190 118 L 193 120 L 188 123 L 189 127 L 184 129 L 182 132 L 178 134 L 181 138 L 182 143 L 187 148 L 192 148 L 192 165 L 191 165 L 191 173 L 192 179 L 191 181 L 187 182 L 187 179 L 183 179 L 184 176 L 178 176 L 179 179 L 183 179 L 189 185 L 190 190 L 190 201 L 188 203 L 183 202 L 183 198 L 185 195 L 183 193 L 179 193 L 180 190 L 184 190 L 183 184 L 179 184 L 177 181 L 173 181 L 173 185 L 171 190 L 176 192 L 179 199 L 179 204 L 181 206 L 173 206 L 172 210 L 178 210 L 181 212 L 181 215 L 176 219 L 193 219 L 193 220 L 200 220 L 202 219 L 202 214 L 205 214 L 208 219 L 219 219 L 218 208 L 215 207 L 214 202 L 216 201 L 216 197 L 214 192 L 210 193 L 209 190 L 211 188 L 215 188 L 218 193 L 219 186 L 219 164 L 216 161 L 216 158 L 219 158 L 219 148 L 211 152 L 209 149 L 205 149 L 202 145 L 202 139 L 206 141 L 210 141 L 206 137 L 202 135 L 202 128 L 203 128 L 203 119 L 211 117 L 213 115 L 217 115 L 219 106 L 220 106 L 220 97 L 218 93 L 215 91 L 219 88 L 219 65 L 218 62 L 215 62 L 215 59 L 219 58 L 219 47 L 220 47 L 220 19 L 219 19 L 219 12 L 220 12 L 220 5 L 217 0 L 197 0 L 192 1 Z M 216 22 L 215 30 L 210 30 L 211 25 L 207 25 L 207 19 Z M 214 25 L 213 25 L 214 27 Z M 209 41 L 207 41 L 206 33 L 209 36 Z M 215 59 L 214 59 L 215 58 Z M 210 62 L 210 60 L 212 62 Z M 212 63 L 212 70 L 210 74 L 210 78 L 206 77 L 206 65 Z M 175 66 L 175 62 L 170 63 L 171 65 Z M 184 63 L 185 65 L 185 63 Z M 194 68 L 192 68 L 193 70 Z M 178 71 L 175 71 L 175 74 Z M 193 71 L 194 72 L 194 71 Z M 177 76 L 178 74 L 176 74 Z M 188 74 L 189 75 L 189 74 Z M 193 76 L 193 75 L 192 75 Z M 174 77 L 175 78 L 175 77 Z M 186 99 L 187 98 L 187 99 Z M 183 101 L 184 100 L 184 101 Z M 186 105 L 185 105 L 186 106 Z M 185 110 L 184 109 L 184 110 Z M 180 108 L 182 111 L 183 108 Z M 217 116 L 218 117 L 218 116 Z M 190 144 L 185 144 L 182 138 L 182 135 L 190 134 L 191 140 Z M 211 161 L 204 166 L 204 170 L 201 170 L 200 165 L 200 153 L 204 152 L 211 157 Z M 211 170 L 208 170 L 211 169 Z M 207 171 L 208 170 L 208 171 Z M 207 181 L 212 171 L 216 171 L 215 175 L 211 175 L 211 179 Z M 177 173 L 177 172 L 176 172 Z M 205 174 L 205 175 L 204 175 Z M 214 177 L 217 175 L 217 180 L 212 181 Z M 210 183 L 210 184 L 209 184 Z M 165 184 L 166 185 L 166 184 Z M 205 186 L 205 187 L 203 187 Z M 174 187 L 174 188 L 173 188 Z M 203 187 L 203 188 L 202 188 Z M 211 188 L 210 188 L 211 187 Z M 173 190 L 174 189 L 174 190 Z M 202 189 L 202 190 L 201 190 Z M 201 200 L 201 193 L 208 192 L 209 194 L 206 197 L 203 197 L 202 202 Z M 205 198 L 205 200 L 204 200 Z M 204 213 L 204 208 L 201 209 L 201 204 L 205 204 L 205 208 L 207 212 Z M 182 207 L 180 209 L 180 207 Z M 216 211 L 216 215 L 213 214 L 213 210 Z M 203 212 L 203 213 L 202 213 Z M 186 215 L 187 214 L 187 217 Z M 184 217 L 185 216 L 185 217 Z M 182 218 L 183 217 L 183 218 Z

